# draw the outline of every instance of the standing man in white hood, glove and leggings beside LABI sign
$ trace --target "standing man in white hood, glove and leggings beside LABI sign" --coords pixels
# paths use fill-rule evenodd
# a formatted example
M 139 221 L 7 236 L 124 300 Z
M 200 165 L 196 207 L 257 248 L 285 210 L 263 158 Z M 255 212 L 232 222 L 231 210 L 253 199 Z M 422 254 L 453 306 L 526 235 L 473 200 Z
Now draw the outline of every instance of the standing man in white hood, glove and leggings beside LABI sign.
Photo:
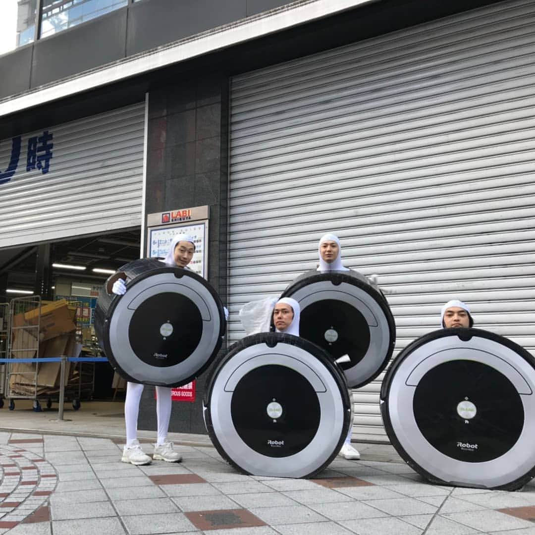
M 192 236 L 178 234 L 171 241 L 169 253 L 164 263 L 169 266 L 179 266 L 189 269 L 187 265 L 192 261 L 195 253 L 195 241 Z M 117 295 L 126 293 L 126 285 L 123 279 L 118 279 L 113 284 L 112 292 Z M 126 386 L 125 400 L 125 424 L 126 445 L 123 448 L 121 461 L 132 464 L 150 464 L 151 458 L 143 452 L 139 440 L 137 440 L 137 417 L 139 415 L 139 403 L 144 385 L 128 382 Z M 173 442 L 167 440 L 167 430 L 171 418 L 171 388 L 165 386 L 156 387 L 156 418 L 158 423 L 158 438 L 154 445 L 156 461 L 179 462 L 182 456 L 173 450 Z

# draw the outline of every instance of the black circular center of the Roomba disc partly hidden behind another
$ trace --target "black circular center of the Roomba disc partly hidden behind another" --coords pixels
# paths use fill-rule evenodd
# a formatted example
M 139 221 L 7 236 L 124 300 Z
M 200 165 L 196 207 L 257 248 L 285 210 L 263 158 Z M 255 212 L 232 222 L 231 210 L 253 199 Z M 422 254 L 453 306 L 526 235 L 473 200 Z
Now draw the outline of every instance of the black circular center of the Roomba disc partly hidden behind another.
M 336 299 L 323 299 L 305 307 L 299 334 L 325 349 L 334 360 L 348 355 L 350 361 L 340 364 L 344 370 L 360 362 L 370 347 L 370 328 L 364 316 Z

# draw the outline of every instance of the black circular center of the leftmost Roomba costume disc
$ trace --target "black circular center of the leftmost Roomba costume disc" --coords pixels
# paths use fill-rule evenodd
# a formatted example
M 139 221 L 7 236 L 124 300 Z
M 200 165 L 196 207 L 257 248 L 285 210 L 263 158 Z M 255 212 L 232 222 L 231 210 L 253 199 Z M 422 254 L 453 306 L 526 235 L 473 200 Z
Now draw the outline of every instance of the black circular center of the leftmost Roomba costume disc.
M 165 368 L 185 361 L 202 337 L 201 313 L 184 295 L 163 292 L 143 301 L 128 326 L 136 356 L 146 364 Z

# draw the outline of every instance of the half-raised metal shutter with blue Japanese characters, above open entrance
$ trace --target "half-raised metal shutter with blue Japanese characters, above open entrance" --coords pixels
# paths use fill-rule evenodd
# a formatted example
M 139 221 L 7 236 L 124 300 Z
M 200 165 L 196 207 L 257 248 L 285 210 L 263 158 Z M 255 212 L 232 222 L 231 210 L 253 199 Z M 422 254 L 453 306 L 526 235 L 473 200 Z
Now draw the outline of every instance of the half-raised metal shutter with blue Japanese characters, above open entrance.
M 144 110 L 135 104 L 22 134 L 16 171 L 0 184 L 0 247 L 140 225 Z M 49 170 L 27 171 L 30 138 L 43 132 L 52 135 Z M 0 178 L 11 149 L 11 139 L 0 141 Z

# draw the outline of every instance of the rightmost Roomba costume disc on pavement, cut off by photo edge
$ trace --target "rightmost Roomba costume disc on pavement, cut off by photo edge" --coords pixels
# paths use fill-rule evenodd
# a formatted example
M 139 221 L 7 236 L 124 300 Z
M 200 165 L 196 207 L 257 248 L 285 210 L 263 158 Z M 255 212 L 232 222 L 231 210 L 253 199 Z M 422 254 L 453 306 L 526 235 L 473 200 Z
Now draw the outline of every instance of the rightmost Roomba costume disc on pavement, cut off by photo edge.
M 515 490 L 535 476 L 535 359 L 482 329 L 418 338 L 381 386 L 393 446 L 433 483 Z

